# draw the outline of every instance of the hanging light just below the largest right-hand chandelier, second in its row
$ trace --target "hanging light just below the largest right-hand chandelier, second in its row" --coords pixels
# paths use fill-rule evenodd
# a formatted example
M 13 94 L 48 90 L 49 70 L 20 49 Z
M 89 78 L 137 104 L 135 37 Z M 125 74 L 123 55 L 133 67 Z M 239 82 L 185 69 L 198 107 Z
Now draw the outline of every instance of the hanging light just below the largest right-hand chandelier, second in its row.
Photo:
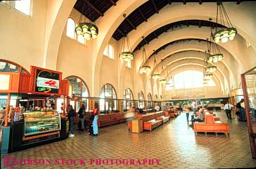
M 223 59 L 223 54 L 220 52 L 219 46 L 213 40 L 212 28 L 211 28 L 211 37 L 210 38 L 211 38 L 211 40 L 210 40 L 209 46 L 207 43 L 207 47 L 208 47 L 208 53 L 212 53 L 212 54 L 210 54 L 210 56 L 208 58 L 208 62 L 217 63 L 218 61 L 221 61 Z

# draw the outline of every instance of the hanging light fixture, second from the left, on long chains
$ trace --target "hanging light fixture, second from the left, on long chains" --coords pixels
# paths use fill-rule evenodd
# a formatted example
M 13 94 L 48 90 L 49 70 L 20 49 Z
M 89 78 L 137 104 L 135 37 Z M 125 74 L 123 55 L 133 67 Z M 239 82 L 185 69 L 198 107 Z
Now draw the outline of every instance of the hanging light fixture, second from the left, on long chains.
M 125 20 L 126 14 L 123 14 L 123 16 L 124 16 L 124 20 Z M 119 58 L 120 58 L 120 60 L 128 62 L 130 60 L 133 60 L 134 54 L 131 49 L 131 44 L 129 41 L 129 37 L 128 37 L 126 28 L 124 28 L 124 33 L 125 33 L 125 35 L 122 40 L 121 49 L 119 52 Z

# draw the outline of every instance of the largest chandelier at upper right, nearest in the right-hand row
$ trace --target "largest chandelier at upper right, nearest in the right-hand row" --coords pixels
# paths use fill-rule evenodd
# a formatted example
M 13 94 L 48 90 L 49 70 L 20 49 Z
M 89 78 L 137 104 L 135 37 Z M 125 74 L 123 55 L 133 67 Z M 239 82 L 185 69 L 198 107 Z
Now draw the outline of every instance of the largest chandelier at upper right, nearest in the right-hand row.
M 226 43 L 228 40 L 233 40 L 234 36 L 237 34 L 237 29 L 233 27 L 230 19 L 228 18 L 228 14 L 224 8 L 223 3 L 221 0 L 217 2 L 217 16 L 216 16 L 216 23 L 218 24 L 218 14 L 220 15 L 220 24 L 225 25 L 225 22 L 228 23 L 228 28 L 221 28 L 219 31 L 217 30 L 213 34 L 213 39 L 216 43 L 221 41 L 222 43 Z

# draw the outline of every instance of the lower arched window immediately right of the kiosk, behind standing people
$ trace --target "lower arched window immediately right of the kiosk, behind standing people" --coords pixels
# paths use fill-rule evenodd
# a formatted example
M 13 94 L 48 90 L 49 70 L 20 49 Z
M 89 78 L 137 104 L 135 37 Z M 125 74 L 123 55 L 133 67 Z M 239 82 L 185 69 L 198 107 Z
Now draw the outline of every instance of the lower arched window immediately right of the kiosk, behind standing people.
M 77 76 L 66 77 L 65 80 L 69 81 L 70 86 L 72 87 L 72 98 L 77 97 L 82 100 L 82 104 L 85 104 L 86 111 L 89 111 L 89 89 L 86 83 Z M 57 103 L 57 108 L 61 107 L 61 103 Z M 76 112 L 79 111 L 81 107 L 80 102 L 75 105 Z

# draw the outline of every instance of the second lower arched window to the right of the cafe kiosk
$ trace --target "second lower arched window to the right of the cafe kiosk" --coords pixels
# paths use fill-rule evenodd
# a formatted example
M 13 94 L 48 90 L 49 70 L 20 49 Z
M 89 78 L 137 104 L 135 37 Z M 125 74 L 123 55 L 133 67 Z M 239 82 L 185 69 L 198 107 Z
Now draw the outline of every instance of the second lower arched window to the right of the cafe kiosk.
M 116 111 L 117 102 L 116 102 L 116 91 L 111 84 L 104 84 L 100 89 L 100 112 L 113 112 Z

